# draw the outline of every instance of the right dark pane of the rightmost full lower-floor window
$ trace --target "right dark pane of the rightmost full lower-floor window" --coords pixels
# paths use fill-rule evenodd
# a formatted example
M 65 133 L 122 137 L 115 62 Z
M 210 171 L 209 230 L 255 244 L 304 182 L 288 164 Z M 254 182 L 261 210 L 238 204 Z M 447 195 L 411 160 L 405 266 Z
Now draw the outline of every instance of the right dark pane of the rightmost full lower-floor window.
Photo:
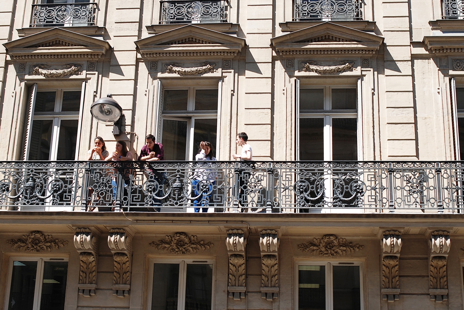
M 359 266 L 333 266 L 334 310 L 360 310 Z

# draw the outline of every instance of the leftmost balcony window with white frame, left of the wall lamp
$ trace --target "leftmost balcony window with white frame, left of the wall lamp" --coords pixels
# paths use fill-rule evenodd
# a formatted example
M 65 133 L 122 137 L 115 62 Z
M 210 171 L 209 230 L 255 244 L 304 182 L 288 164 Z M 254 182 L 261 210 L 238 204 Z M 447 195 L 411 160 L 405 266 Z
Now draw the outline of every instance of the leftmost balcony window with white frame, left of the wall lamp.
M 28 160 L 74 160 L 81 89 L 39 90 L 27 141 Z

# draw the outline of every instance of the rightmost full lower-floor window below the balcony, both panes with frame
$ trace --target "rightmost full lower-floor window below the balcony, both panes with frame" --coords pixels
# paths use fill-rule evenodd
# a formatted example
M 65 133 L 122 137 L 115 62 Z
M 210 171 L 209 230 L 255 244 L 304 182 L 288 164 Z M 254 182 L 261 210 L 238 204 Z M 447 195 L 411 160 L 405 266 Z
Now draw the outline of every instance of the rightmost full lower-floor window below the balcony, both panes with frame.
M 298 263 L 298 310 L 361 310 L 360 266 L 355 263 Z

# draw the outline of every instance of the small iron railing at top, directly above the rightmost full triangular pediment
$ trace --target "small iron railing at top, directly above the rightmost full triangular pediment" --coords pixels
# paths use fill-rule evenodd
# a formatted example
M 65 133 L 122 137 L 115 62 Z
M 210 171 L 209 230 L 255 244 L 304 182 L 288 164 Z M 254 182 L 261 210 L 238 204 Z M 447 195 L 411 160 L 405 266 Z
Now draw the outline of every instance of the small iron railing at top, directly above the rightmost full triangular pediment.
M 361 0 L 294 0 L 294 21 L 361 19 Z

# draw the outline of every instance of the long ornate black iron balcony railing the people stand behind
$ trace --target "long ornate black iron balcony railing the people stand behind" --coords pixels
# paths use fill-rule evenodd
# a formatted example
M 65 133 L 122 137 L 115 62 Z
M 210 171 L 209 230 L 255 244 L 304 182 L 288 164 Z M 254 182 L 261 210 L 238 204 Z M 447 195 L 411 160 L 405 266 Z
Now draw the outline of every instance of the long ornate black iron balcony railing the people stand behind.
M 464 162 L 0 162 L 0 209 L 464 213 Z M 188 210 L 187 210 L 188 209 Z

